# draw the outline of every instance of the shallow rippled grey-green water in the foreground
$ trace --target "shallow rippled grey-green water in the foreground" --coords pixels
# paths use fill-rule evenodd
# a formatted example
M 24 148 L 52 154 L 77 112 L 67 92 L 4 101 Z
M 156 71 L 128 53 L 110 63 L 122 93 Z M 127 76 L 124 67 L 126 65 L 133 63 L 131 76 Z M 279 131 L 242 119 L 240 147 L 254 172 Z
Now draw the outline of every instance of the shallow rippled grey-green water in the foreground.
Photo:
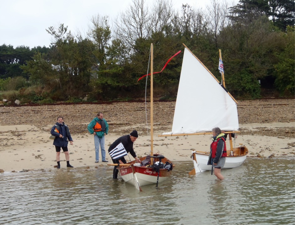
M 113 180 L 113 167 L 4 173 L 0 224 L 294 224 L 294 167 L 294 158 L 247 158 L 218 181 L 177 162 L 143 192 Z

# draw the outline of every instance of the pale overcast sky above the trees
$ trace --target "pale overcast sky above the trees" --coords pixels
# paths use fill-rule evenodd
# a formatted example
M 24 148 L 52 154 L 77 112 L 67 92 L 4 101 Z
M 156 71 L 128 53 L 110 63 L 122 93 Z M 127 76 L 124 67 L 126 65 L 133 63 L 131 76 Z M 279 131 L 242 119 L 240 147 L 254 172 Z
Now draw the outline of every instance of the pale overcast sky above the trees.
M 154 0 L 146 0 L 154 2 Z M 209 0 L 172 0 L 174 8 L 188 3 L 194 8 L 205 8 Z M 236 0 L 237 2 L 237 0 Z M 64 23 L 73 34 L 85 34 L 92 16 L 115 18 L 124 12 L 132 0 L 0 0 L 0 46 L 3 44 L 49 47 L 50 26 Z

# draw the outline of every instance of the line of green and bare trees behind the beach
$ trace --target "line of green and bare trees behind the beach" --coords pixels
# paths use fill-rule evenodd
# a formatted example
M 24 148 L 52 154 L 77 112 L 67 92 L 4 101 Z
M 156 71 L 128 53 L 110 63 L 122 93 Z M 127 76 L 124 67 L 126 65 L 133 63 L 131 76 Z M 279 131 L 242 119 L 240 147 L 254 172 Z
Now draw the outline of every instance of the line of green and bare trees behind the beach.
M 93 16 L 86 37 L 60 24 L 46 29 L 49 47 L 0 46 L 0 93 L 23 103 L 144 97 L 145 82 L 137 80 L 148 71 L 150 43 L 154 71 L 184 43 L 219 80 L 221 49 L 235 98 L 261 98 L 269 89 L 294 97 L 294 12 L 293 0 L 211 0 L 206 9 L 179 10 L 171 0 L 133 0 L 113 21 Z M 176 97 L 181 65 L 182 53 L 154 76 L 155 96 Z

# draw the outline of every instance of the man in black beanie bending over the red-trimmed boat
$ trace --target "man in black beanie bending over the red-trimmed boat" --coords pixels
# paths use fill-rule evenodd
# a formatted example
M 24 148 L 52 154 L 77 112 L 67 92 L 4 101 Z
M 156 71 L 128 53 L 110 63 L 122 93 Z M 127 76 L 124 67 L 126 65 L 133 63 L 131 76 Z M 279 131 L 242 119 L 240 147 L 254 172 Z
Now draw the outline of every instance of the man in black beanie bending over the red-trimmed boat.
M 133 143 L 135 142 L 137 138 L 138 138 L 138 133 L 136 130 L 134 130 L 130 134 L 124 135 L 118 138 L 116 141 L 114 141 L 113 144 L 111 144 L 110 147 L 108 148 L 108 152 L 112 151 L 120 143 L 122 143 L 126 152 L 130 153 L 134 157 L 137 163 L 141 163 L 141 161 L 136 157 L 136 153 L 134 152 L 134 149 L 133 149 Z M 118 159 L 112 158 L 112 161 L 113 163 L 126 163 L 124 156 Z M 119 170 L 117 169 L 117 166 L 114 166 L 113 179 L 118 178 L 118 172 Z

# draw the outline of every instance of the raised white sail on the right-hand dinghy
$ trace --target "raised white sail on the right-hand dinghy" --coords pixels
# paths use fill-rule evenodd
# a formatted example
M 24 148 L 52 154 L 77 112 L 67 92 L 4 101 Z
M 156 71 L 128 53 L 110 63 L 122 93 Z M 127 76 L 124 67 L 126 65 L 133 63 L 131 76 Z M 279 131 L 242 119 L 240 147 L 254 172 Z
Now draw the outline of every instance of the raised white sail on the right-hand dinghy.
M 239 129 L 237 105 L 211 72 L 185 47 L 172 132 L 189 134 Z

